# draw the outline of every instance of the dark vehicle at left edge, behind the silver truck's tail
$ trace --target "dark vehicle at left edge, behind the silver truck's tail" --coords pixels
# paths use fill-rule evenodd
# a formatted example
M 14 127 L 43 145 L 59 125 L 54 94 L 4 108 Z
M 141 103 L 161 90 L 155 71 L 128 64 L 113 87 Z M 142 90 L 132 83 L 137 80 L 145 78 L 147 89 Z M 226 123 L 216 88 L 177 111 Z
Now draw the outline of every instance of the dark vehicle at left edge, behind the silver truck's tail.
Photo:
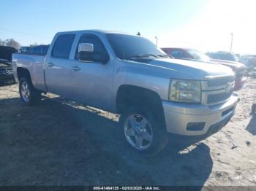
M 0 46 L 0 83 L 14 81 L 12 72 L 12 53 L 18 52 L 14 47 Z

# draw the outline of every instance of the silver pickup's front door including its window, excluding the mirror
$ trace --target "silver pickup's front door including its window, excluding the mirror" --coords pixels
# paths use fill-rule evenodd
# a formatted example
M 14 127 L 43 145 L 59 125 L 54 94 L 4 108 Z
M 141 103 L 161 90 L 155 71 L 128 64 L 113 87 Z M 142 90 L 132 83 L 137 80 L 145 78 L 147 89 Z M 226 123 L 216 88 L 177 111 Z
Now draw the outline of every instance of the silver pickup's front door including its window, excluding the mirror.
M 92 34 L 83 34 L 79 43 L 94 45 L 94 61 L 78 61 L 78 48 L 75 60 L 71 63 L 70 83 L 72 98 L 90 106 L 109 109 L 113 86 L 113 61 L 107 63 L 99 61 L 102 55 L 108 55 L 104 44 L 99 37 Z

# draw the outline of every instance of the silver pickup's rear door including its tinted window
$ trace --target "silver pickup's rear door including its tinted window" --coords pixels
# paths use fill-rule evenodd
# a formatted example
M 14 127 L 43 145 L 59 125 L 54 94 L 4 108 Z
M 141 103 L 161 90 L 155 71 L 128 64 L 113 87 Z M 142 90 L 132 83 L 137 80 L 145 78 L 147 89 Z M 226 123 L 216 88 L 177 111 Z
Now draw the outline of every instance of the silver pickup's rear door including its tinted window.
M 75 34 L 57 36 L 49 52 L 45 66 L 45 82 L 50 93 L 70 98 L 70 60 L 69 55 Z

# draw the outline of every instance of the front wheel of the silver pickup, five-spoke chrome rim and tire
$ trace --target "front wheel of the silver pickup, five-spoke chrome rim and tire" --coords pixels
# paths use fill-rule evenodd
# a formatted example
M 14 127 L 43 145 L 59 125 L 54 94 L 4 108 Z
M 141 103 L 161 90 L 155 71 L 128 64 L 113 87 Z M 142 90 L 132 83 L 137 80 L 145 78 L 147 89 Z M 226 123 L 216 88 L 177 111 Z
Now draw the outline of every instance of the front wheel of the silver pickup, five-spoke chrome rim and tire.
M 154 155 L 168 143 L 165 121 L 157 119 L 159 117 L 155 117 L 157 115 L 154 112 L 144 110 L 136 106 L 129 107 L 126 114 L 121 114 L 119 122 L 130 147 L 141 154 Z

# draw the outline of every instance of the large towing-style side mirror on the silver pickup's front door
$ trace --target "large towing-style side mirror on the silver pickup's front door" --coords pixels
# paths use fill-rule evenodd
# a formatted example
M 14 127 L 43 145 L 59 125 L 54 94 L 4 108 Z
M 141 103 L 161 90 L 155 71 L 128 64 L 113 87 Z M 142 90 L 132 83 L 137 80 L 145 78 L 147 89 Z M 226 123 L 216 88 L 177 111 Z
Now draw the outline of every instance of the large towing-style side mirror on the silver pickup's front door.
M 78 44 L 78 60 L 82 62 L 94 61 L 94 44 L 79 43 Z

